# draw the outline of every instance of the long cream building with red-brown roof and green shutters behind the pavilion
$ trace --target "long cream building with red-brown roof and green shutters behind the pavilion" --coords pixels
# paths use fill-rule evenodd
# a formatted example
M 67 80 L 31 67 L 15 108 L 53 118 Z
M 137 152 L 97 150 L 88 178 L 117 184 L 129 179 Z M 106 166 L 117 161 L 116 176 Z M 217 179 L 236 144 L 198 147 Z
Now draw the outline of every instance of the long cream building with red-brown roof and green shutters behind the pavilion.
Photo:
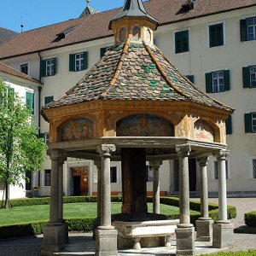
M 172 1 L 170 4 L 167 0 L 150 0 L 145 8 L 160 20 L 154 44 L 201 90 L 236 108 L 226 121 L 230 148 L 227 189 L 230 195 L 255 195 L 255 1 L 197 1 L 195 4 Z M 69 90 L 70 84 L 82 79 L 108 46 L 114 44 L 108 22 L 118 12 L 119 9 L 113 9 L 23 32 L 0 46 L 0 61 L 44 84 L 42 90 L 38 90 L 40 100 L 35 104 L 39 110 Z M 48 143 L 48 124 L 43 118 L 38 124 Z M 112 165 L 112 191 L 119 194 L 121 168 L 119 162 Z M 218 191 L 217 168 L 217 161 L 212 157 L 208 163 L 208 186 L 212 195 Z M 200 185 L 198 170 L 197 161 L 189 160 L 190 190 L 195 195 Z M 64 164 L 64 173 L 65 195 L 96 195 L 97 173 L 93 161 L 69 158 Z M 149 194 L 152 173 L 148 164 Z M 177 173 L 177 160 L 164 161 L 160 166 L 162 195 L 178 192 Z M 49 160 L 44 163 L 44 172 L 34 177 L 32 183 L 39 186 L 40 195 L 49 195 Z

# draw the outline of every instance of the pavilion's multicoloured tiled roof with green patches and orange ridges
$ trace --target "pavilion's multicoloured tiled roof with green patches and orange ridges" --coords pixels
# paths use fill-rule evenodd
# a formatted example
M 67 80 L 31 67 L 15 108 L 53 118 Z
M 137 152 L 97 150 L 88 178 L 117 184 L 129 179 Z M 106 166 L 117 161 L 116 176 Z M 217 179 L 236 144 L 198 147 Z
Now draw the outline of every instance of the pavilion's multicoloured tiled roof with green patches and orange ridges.
M 233 112 L 189 82 L 160 49 L 129 39 L 109 49 L 78 84 L 44 108 L 100 99 L 190 101 Z

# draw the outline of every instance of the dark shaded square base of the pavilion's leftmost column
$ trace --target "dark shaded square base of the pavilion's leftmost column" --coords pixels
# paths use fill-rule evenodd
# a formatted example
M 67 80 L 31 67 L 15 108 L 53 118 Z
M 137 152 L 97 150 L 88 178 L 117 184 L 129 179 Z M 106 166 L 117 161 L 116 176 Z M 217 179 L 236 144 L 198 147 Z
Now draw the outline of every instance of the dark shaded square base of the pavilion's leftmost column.
M 65 248 L 65 225 L 46 224 L 41 255 L 52 255 Z

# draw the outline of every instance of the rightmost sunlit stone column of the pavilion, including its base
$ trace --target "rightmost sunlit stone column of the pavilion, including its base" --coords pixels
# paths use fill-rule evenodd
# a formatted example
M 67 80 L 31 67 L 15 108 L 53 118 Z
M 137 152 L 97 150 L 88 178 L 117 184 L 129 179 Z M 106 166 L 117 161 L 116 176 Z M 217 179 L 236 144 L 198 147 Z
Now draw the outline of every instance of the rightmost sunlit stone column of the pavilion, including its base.
M 226 159 L 230 151 L 220 150 L 218 160 L 218 221 L 212 225 L 212 247 L 223 248 L 234 244 L 234 225 L 227 215 Z

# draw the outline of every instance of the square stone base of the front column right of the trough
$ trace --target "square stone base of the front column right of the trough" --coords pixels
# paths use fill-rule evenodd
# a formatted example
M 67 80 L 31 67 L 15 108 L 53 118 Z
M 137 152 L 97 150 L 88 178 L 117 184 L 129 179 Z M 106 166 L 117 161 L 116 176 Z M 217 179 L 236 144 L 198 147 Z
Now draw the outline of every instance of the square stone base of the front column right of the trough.
M 177 225 L 176 255 L 194 255 L 195 254 L 195 228 L 193 224 L 179 224 Z

